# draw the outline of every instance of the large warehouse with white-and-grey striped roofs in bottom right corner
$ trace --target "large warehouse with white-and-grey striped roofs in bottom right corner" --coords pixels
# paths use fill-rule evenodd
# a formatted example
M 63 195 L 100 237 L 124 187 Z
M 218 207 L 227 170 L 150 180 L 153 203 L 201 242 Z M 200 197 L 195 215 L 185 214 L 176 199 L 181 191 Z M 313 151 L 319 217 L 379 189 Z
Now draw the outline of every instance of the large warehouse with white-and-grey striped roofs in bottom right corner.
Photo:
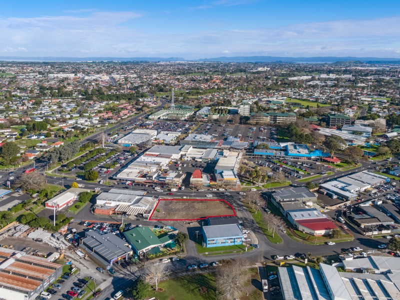
M 373 263 L 382 267 L 388 263 L 395 264 L 387 274 L 369 274 L 339 272 L 336 267 L 320 263 L 319 270 L 310 267 L 278 267 L 279 281 L 284 299 L 319 299 L 319 300 L 370 300 L 400 299 L 398 289 L 399 261 L 388 261 L 400 258 L 376 257 Z M 345 264 L 358 264 L 368 258 L 345 260 Z M 365 263 L 373 265 L 373 263 Z M 365 269 L 364 268 L 364 269 Z M 388 268 L 386 268 L 388 269 Z

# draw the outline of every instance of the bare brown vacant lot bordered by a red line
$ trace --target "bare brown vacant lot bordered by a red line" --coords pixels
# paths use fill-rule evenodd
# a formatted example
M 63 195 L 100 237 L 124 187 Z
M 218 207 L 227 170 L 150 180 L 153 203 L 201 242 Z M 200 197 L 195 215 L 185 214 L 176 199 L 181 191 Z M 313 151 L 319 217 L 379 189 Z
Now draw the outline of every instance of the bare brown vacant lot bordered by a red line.
M 224 199 L 159 199 L 151 221 L 195 221 L 210 216 L 236 215 Z

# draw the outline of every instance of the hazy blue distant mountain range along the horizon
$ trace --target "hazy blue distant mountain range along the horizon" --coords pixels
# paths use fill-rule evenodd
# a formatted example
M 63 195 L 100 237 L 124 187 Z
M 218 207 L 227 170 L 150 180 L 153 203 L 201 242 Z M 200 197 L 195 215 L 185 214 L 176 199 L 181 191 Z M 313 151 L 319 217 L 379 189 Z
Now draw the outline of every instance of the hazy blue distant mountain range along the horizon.
M 381 57 L 281 57 L 281 56 L 232 56 L 200 59 L 184 59 L 182 57 L 33 57 L 33 56 L 0 56 L 0 60 L 13 61 L 221 61 L 221 62 L 342 62 L 357 61 L 369 63 L 400 63 L 400 58 Z

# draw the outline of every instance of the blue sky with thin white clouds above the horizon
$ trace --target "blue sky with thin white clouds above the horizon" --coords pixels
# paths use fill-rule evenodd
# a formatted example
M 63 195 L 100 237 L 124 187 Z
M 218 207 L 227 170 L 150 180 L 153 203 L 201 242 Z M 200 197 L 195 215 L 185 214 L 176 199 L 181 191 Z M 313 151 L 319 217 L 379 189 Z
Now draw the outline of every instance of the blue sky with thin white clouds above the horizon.
M 0 56 L 400 58 L 399 0 L 18 0 Z

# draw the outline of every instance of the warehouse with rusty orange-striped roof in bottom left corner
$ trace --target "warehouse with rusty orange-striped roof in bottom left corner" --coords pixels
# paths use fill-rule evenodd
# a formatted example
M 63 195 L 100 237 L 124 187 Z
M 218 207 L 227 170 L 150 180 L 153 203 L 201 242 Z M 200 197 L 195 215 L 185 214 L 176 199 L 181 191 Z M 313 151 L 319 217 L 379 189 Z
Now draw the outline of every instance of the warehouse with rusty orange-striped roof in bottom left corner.
M 32 300 L 62 274 L 62 265 L 23 251 L 0 248 L 0 297 Z

